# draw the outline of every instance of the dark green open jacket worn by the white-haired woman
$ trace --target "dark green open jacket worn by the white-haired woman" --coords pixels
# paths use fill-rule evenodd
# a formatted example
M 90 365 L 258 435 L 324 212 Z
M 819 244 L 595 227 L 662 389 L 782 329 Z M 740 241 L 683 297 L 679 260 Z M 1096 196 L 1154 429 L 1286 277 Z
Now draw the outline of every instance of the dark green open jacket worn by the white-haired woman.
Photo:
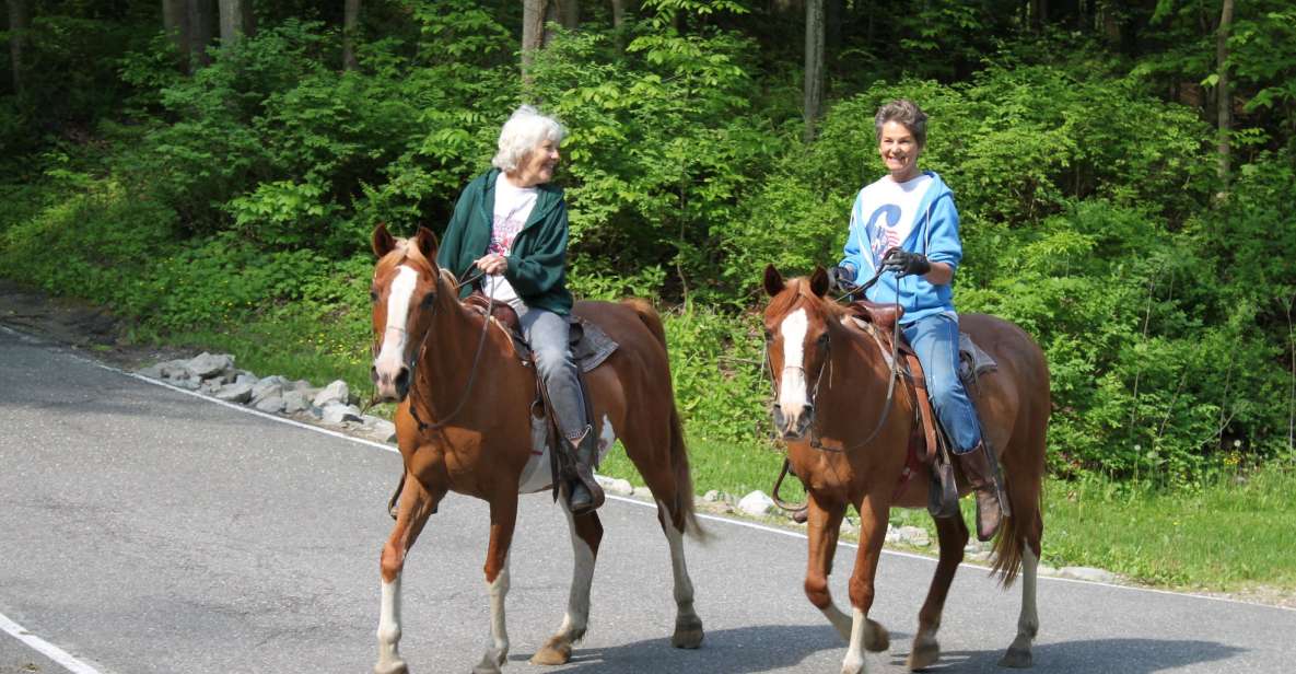
M 441 238 L 437 264 L 454 272 L 459 280 L 470 275 L 473 262 L 485 255 L 490 245 L 498 175 L 499 168 L 491 168 L 468 183 Z M 526 306 L 565 315 L 572 311 L 572 293 L 565 283 L 566 201 L 561 188 L 550 184 L 537 187 L 540 193 L 526 224 L 513 238 L 504 279 Z M 460 297 L 467 297 L 469 292 L 465 285 Z

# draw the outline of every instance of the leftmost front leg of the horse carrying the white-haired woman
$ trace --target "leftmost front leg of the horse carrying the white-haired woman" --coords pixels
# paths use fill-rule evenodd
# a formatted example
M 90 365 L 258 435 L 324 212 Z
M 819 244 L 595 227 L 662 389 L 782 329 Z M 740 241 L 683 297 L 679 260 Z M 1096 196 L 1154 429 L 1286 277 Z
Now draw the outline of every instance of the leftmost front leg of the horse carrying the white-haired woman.
M 437 509 L 437 503 L 446 495 L 438 490 L 429 493 L 421 482 L 406 476 L 400 489 L 400 509 L 397 524 L 382 547 L 382 608 L 378 616 L 378 662 L 373 665 L 375 674 L 404 674 L 408 671 L 400 658 L 400 573 L 404 570 L 406 555 L 419 539 L 419 533 L 428 522 L 428 516 Z

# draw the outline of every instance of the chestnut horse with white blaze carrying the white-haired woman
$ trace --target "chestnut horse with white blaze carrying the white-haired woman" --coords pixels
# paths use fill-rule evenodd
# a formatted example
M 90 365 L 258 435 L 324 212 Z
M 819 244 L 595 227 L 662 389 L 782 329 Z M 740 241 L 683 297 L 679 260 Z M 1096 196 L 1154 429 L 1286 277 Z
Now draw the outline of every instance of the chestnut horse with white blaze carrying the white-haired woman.
M 397 442 L 404 460 L 397 522 L 382 548 L 378 674 L 407 671 L 400 642 L 400 573 L 428 516 L 447 491 L 490 503 L 486 590 L 490 642 L 476 671 L 499 671 L 508 656 L 504 596 L 508 548 L 520 493 L 551 487 L 548 456 L 531 451 L 530 406 L 535 372 L 515 355 L 509 334 L 465 307 L 448 271 L 435 263 L 437 240 L 426 228 L 406 240 L 384 226 L 373 232 L 373 377 L 378 395 L 399 401 Z M 621 346 L 587 375 L 594 433 L 605 451 L 621 438 L 657 502 L 666 533 L 677 605 L 671 644 L 696 648 L 702 622 L 693 612 L 693 585 L 682 535 L 700 535 L 693 516 L 688 455 L 671 393 L 661 319 L 645 302 L 579 302 L 575 314 L 596 323 Z M 566 508 L 564 508 L 566 511 Z M 575 556 L 566 616 L 531 658 L 559 665 L 584 636 L 590 582 L 603 525 L 595 512 L 566 512 Z

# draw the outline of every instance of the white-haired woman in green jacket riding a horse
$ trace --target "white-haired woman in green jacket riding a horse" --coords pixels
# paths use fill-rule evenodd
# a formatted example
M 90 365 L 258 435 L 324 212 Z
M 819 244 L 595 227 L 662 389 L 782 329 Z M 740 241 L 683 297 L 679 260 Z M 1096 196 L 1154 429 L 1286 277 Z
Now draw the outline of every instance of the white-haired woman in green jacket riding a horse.
M 562 189 L 551 184 L 565 134 L 556 119 L 529 105 L 509 117 L 494 167 L 459 196 L 437 264 L 459 279 L 481 270 L 482 292 L 517 311 L 555 421 L 578 463 L 581 478 L 569 485 L 568 502 L 579 515 L 601 506 L 603 491 L 592 478 L 597 438 L 590 433 L 568 346 L 566 202 Z

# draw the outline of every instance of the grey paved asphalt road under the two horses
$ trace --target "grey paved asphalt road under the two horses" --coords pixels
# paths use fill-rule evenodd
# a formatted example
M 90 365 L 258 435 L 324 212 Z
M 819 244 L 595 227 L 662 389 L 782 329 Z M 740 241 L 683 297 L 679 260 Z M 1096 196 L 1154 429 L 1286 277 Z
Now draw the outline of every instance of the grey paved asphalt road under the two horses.
M 0 674 L 368 671 L 398 472 L 399 458 L 376 446 L 0 329 Z M 706 642 L 683 652 L 666 639 L 674 604 L 653 511 L 616 500 L 601 512 L 591 629 L 557 671 L 837 671 L 844 644 L 801 594 L 804 539 L 705 521 L 714 540 L 688 551 Z M 483 504 L 447 499 L 406 573 L 402 647 L 415 671 L 468 671 L 480 657 L 485 546 Z M 525 660 L 561 620 L 569 550 L 557 509 L 525 498 L 505 671 L 539 670 Z M 853 556 L 839 553 L 839 598 Z M 874 616 L 893 645 L 870 656 L 871 671 L 902 671 L 933 566 L 884 557 Z M 1016 588 L 964 569 L 942 669 L 999 671 L 1017 601 Z M 1041 579 L 1039 605 L 1038 671 L 1257 673 L 1296 661 L 1292 610 L 1056 579 Z

